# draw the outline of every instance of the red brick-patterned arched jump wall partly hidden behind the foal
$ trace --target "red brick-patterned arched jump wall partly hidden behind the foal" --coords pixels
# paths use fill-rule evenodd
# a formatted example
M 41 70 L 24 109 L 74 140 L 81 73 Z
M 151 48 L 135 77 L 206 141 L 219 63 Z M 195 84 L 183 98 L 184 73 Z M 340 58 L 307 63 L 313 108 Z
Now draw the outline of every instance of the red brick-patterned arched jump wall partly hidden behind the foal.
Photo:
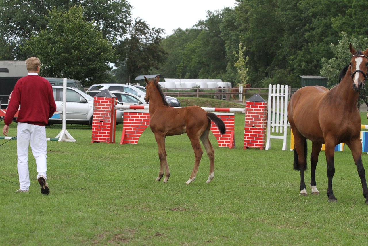
M 226 133 L 221 135 L 217 126 L 212 122 L 211 131 L 215 135 L 219 147 L 234 146 L 234 113 L 215 113 L 226 125 Z M 148 110 L 124 110 L 124 128 L 120 144 L 137 144 L 142 132 L 149 126 Z M 231 134 L 232 132 L 232 134 Z

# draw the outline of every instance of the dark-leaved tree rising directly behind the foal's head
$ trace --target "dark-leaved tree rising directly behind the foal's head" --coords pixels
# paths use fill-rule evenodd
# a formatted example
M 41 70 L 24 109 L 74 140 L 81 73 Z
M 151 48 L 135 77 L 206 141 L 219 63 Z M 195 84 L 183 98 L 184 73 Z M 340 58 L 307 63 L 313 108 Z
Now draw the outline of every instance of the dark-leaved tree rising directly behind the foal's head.
M 133 83 L 135 77 L 149 74 L 158 69 L 167 56 L 160 42 L 162 28 L 150 28 L 143 20 L 136 19 L 128 36 L 117 45 L 119 54 L 115 65 L 118 67 L 116 75 L 120 83 Z

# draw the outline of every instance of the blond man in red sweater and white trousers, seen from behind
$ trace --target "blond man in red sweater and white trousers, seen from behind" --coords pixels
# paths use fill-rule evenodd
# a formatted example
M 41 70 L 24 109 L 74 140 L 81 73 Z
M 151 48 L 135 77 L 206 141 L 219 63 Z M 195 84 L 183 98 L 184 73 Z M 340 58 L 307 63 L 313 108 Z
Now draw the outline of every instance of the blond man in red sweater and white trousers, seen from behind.
M 9 125 L 18 111 L 17 154 L 20 189 L 28 192 L 31 182 L 28 171 L 28 146 L 31 145 L 36 159 L 37 179 L 41 193 L 50 193 L 46 179 L 46 128 L 45 125 L 56 111 L 56 104 L 50 82 L 38 74 L 40 60 L 31 57 L 26 60 L 28 75 L 19 79 L 14 86 L 4 118 L 3 134 L 7 136 Z

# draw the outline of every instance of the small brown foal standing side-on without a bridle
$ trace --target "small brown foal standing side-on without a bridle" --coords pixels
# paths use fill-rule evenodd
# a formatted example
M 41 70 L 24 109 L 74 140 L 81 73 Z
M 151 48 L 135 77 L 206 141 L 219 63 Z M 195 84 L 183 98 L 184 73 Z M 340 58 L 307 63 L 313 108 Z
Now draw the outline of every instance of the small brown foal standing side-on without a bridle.
M 183 108 L 172 108 L 166 102 L 161 87 L 158 84 L 159 76 L 153 80 L 144 77 L 146 85 L 145 101 L 149 102 L 149 126 L 155 134 L 155 139 L 159 150 L 160 171 L 157 181 L 160 181 L 165 171 L 164 183 L 170 177 L 169 165 L 166 160 L 165 139 L 166 136 L 180 135 L 186 133 L 192 143 L 195 155 L 195 163 L 192 174 L 186 184 L 195 180 L 199 162 L 203 154 L 199 139 L 201 139 L 209 158 L 209 175 L 206 183 L 215 177 L 215 150 L 209 141 L 208 134 L 211 128 L 211 121 L 215 122 L 221 134 L 224 134 L 226 127 L 222 119 L 216 114 L 206 112 L 198 106 L 188 106 Z

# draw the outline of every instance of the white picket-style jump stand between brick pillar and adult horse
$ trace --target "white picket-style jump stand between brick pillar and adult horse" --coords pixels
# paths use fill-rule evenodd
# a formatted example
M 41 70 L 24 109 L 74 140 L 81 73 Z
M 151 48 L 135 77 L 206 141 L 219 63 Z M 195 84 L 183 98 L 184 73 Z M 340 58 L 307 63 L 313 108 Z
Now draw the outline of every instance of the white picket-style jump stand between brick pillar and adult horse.
M 280 88 L 281 87 L 281 88 Z M 283 139 L 282 150 L 286 150 L 287 103 L 289 86 L 277 84 L 268 86 L 268 117 L 266 150 L 271 148 L 271 138 Z M 283 135 L 271 135 L 271 132 Z

